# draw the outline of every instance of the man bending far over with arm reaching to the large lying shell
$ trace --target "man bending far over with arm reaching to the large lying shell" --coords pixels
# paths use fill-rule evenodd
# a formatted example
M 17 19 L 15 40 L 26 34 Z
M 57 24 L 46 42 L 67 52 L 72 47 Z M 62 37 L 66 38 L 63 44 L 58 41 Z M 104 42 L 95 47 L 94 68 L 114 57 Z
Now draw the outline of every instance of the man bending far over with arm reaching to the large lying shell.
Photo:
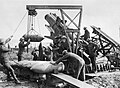
M 56 62 L 52 62 L 52 64 L 58 64 L 62 60 L 67 60 L 68 67 L 65 68 L 66 71 L 72 72 L 73 77 L 80 78 L 80 80 L 85 80 L 85 61 L 72 52 L 67 52 L 67 50 L 63 51 L 63 57 L 59 58 Z

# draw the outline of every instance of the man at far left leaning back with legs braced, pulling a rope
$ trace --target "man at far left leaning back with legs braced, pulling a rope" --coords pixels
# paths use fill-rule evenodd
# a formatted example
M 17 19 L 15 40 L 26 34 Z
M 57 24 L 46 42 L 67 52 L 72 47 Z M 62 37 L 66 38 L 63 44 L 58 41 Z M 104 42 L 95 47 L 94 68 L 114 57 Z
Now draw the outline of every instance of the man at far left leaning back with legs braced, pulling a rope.
M 10 74 L 11 74 L 15 82 L 17 84 L 20 84 L 20 81 L 17 79 L 14 73 L 14 70 L 9 63 L 8 52 L 10 51 L 10 49 L 5 47 L 5 43 L 6 41 L 4 41 L 3 39 L 0 39 L 0 63 L 4 66 L 4 68 L 7 69 L 7 80 L 10 79 Z

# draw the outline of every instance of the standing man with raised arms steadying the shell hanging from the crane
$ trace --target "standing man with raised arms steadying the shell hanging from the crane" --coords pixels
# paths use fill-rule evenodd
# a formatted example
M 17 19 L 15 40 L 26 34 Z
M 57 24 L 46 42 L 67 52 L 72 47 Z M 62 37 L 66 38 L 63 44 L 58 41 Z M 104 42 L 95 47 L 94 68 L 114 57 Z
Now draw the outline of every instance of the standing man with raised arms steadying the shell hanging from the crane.
M 24 38 L 20 38 L 20 43 L 19 43 L 19 51 L 18 51 L 18 61 L 23 60 L 23 52 L 25 50 L 25 47 L 27 47 L 30 44 L 30 39 L 28 39 L 28 42 L 25 44 Z

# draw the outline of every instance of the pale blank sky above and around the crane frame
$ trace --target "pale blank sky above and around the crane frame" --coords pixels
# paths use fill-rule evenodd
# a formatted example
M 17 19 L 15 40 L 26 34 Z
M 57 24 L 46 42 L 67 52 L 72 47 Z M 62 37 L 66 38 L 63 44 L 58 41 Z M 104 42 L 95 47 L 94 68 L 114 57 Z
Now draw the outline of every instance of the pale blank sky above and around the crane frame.
M 90 25 L 100 27 L 102 31 L 111 36 L 118 43 L 120 42 L 120 0 L 0 0 L 0 37 L 7 38 L 11 36 L 18 26 L 23 15 L 27 12 L 26 5 L 34 4 L 68 4 L 82 5 L 81 30 L 84 26 L 91 30 Z M 43 27 L 47 22 L 44 19 L 45 14 L 50 11 L 41 11 L 38 32 L 42 35 L 49 34 L 48 30 Z M 19 41 L 19 38 L 27 32 L 27 17 L 14 34 L 12 40 Z M 14 45 L 17 44 L 15 42 Z M 13 44 L 13 41 L 10 41 Z

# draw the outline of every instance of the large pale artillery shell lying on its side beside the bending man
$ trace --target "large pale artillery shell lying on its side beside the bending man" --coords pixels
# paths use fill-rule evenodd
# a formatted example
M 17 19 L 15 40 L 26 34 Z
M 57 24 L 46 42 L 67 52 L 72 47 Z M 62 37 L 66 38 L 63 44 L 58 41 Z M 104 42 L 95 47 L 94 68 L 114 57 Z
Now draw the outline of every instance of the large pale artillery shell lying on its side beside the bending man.
M 43 64 L 36 64 L 33 65 L 30 70 L 36 73 L 50 73 L 55 70 L 57 71 L 63 71 L 64 70 L 64 64 L 61 62 L 58 65 L 52 65 L 50 62 L 46 62 Z

